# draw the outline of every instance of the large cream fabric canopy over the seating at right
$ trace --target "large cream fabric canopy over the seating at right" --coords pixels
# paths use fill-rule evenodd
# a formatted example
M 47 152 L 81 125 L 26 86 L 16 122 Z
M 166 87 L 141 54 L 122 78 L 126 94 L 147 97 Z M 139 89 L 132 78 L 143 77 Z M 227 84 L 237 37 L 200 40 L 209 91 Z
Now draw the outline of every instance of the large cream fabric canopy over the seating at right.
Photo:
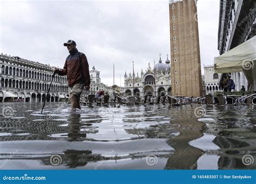
M 214 58 L 215 73 L 240 72 L 256 60 L 256 36 Z

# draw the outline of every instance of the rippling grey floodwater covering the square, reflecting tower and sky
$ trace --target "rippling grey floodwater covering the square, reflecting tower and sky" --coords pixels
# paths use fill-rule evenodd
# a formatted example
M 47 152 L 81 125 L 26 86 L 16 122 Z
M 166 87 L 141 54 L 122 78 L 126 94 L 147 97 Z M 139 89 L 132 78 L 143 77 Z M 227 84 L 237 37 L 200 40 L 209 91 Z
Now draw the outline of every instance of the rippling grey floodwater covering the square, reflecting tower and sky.
M 256 168 L 252 105 L 42 105 L 0 103 L 0 169 Z

